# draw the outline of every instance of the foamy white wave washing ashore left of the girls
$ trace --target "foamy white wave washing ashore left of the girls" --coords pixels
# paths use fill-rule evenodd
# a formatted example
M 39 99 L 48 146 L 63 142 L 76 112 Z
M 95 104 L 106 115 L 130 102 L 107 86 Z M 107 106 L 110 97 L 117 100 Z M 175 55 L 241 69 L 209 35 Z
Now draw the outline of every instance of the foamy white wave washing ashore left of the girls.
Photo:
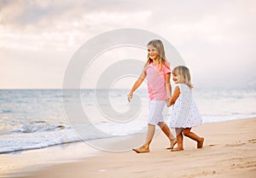
M 139 123 L 143 125 L 143 123 Z M 91 123 L 79 123 L 78 126 L 84 130 L 85 137 L 79 136 L 76 130 L 65 124 L 50 125 L 44 121 L 24 124 L 20 129 L 15 129 L 16 131 L 11 130 L 0 135 L 0 154 L 19 153 L 26 150 L 40 149 L 77 141 L 90 141 L 119 135 L 136 134 L 136 128 L 140 129 L 139 123 L 133 123 L 133 126 L 132 124 L 129 125 L 129 123 L 119 125 L 117 123 L 103 122 L 96 123 L 94 126 Z M 78 129 L 77 126 L 75 128 Z M 131 133 L 132 130 L 133 133 Z

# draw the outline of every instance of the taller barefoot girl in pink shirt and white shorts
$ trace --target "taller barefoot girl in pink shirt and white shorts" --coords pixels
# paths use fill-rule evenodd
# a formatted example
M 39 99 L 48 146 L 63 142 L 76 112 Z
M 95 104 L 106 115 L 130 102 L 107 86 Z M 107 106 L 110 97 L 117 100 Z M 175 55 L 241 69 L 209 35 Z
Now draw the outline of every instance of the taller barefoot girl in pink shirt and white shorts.
M 143 146 L 133 148 L 137 153 L 150 152 L 149 145 L 154 136 L 155 125 L 159 125 L 162 131 L 170 140 L 170 148 L 177 143 L 171 130 L 164 122 L 162 114 L 166 100 L 172 97 L 172 87 L 170 83 L 171 68 L 166 61 L 164 45 L 160 40 L 152 40 L 148 43 L 148 60 L 143 68 L 141 76 L 131 88 L 127 95 L 129 101 L 133 92 L 143 83 L 146 78 L 148 84 L 148 133 Z

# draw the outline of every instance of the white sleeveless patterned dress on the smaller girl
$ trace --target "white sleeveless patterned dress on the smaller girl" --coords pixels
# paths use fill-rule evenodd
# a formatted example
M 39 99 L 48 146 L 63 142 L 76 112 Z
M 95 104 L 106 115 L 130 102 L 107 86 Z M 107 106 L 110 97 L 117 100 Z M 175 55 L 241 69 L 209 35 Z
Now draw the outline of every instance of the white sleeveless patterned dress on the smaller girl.
M 172 106 L 170 128 L 192 128 L 202 123 L 201 115 L 196 106 L 189 86 L 177 83 L 180 95 Z M 170 116 L 169 116 L 170 117 Z

